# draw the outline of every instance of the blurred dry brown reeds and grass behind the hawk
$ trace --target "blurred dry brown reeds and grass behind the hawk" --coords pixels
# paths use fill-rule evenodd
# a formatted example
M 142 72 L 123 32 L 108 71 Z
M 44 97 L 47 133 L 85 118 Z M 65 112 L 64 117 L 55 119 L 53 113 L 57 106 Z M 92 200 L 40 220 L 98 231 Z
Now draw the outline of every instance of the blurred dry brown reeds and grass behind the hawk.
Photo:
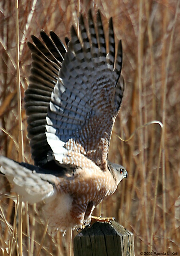
M 101 9 L 113 17 L 122 39 L 126 92 L 115 122 L 109 159 L 122 163 L 128 178 L 102 203 L 102 215 L 114 216 L 134 234 L 140 251 L 180 254 L 180 1 L 82 0 L 80 12 Z M 106 19 L 103 19 L 107 24 Z M 30 35 L 54 30 L 63 40 L 77 24 L 77 0 L 21 0 L 19 3 L 20 79 L 25 161 L 32 163 L 26 137 L 24 91 L 30 74 Z M 15 41 L 15 1 L 0 1 L 0 154 L 18 160 L 18 108 Z M 107 33 L 108 35 L 108 33 Z M 138 130 L 142 124 L 159 120 Z M 0 177 L 3 193 L 9 191 Z M 16 254 L 17 231 L 11 199 L 0 201 L 0 255 Z M 37 255 L 44 226 L 36 207 L 23 206 L 24 255 Z M 17 223 L 20 219 L 17 219 Z M 14 223 L 14 225 L 13 225 Z M 18 224 L 17 224 L 18 226 Z M 74 233 L 74 235 L 76 232 Z M 27 238 L 28 237 L 28 238 Z M 66 255 L 67 237 L 45 235 L 40 255 Z

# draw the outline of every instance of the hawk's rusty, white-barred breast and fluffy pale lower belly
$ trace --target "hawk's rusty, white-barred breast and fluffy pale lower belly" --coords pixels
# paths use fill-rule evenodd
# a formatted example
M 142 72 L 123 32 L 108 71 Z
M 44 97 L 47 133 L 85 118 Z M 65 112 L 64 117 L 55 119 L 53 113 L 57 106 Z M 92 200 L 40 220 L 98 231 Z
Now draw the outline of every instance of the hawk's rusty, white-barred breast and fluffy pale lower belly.
M 91 219 L 92 210 L 105 197 L 114 193 L 117 185 L 109 171 L 98 166 L 79 169 L 74 178 L 58 178 L 55 182 L 56 198 L 43 206 L 45 218 L 52 230 L 82 227 L 84 217 Z M 92 210 L 88 210 L 92 205 Z M 87 221 L 86 221 L 87 222 Z

